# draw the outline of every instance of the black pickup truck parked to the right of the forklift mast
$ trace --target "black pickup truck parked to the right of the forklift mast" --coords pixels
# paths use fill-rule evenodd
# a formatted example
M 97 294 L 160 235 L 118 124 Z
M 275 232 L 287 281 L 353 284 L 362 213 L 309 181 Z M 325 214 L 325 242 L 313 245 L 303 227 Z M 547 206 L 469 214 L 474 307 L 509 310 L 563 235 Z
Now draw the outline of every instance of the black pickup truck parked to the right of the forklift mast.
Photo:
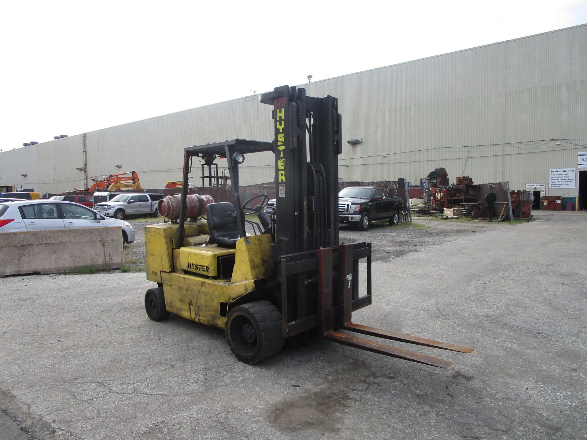
M 367 231 L 369 222 L 389 220 L 395 226 L 400 212 L 402 198 L 387 197 L 380 187 L 347 187 L 338 193 L 339 222 L 356 225 L 359 231 Z

